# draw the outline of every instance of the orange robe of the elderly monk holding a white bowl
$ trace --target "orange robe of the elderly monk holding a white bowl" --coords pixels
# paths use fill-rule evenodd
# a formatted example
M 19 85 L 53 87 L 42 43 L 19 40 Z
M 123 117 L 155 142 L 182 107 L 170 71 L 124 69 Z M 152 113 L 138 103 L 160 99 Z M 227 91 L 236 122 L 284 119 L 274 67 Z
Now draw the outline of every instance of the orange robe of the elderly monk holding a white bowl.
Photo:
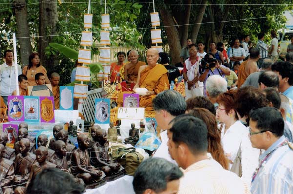
M 156 97 L 158 93 L 164 90 L 167 90 L 169 88 L 167 73 L 168 71 L 161 64 L 157 64 L 153 68 L 147 67 L 141 71 L 139 87 L 146 88 L 148 91 L 154 91 L 155 94 L 140 96 L 139 97 L 140 107 L 145 107 L 146 111 L 153 110 L 152 100 Z M 132 93 L 132 92 L 121 92 L 119 94 L 117 99 L 118 107 L 123 106 L 123 94 L 125 93 Z

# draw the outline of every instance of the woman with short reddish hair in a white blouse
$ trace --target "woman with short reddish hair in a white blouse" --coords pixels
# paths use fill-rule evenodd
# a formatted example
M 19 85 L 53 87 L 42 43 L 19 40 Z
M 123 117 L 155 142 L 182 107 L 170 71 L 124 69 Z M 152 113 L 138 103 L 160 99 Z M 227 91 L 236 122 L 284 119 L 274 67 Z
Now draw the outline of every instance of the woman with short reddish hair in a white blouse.
M 241 147 L 241 177 L 250 184 L 253 171 L 257 166 L 258 157 L 251 156 L 255 149 L 251 146 L 247 127 L 238 120 L 235 110 L 235 94 L 235 90 L 230 90 L 218 96 L 217 103 L 219 106 L 216 111 L 216 118 L 221 122 L 219 124 L 221 142 L 226 157 L 230 161 L 229 169 L 232 167 L 239 147 Z

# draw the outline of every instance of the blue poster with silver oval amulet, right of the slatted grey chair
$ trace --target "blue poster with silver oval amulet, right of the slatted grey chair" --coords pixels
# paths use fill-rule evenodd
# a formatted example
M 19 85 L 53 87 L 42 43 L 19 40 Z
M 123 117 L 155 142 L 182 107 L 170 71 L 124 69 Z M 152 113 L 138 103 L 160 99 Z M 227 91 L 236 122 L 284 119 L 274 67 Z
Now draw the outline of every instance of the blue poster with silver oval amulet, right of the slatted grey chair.
M 110 123 L 110 99 L 108 98 L 95 99 L 95 123 L 97 124 Z

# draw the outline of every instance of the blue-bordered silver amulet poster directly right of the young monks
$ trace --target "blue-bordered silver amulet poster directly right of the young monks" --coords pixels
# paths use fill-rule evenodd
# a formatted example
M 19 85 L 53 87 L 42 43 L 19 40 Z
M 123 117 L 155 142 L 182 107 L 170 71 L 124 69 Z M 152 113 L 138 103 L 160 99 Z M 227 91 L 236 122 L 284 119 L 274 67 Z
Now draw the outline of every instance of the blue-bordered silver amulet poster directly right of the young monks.
M 73 110 L 73 86 L 60 86 L 60 110 Z

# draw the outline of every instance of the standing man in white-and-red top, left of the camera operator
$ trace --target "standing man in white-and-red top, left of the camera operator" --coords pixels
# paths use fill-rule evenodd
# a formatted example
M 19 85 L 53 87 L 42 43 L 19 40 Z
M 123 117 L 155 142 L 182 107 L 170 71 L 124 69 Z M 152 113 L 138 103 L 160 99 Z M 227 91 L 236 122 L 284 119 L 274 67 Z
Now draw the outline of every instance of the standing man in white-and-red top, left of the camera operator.
M 183 64 L 183 79 L 185 82 L 186 98 L 194 96 L 203 96 L 203 83 L 199 82 L 199 62 L 197 56 L 197 45 L 189 45 L 189 58 Z

